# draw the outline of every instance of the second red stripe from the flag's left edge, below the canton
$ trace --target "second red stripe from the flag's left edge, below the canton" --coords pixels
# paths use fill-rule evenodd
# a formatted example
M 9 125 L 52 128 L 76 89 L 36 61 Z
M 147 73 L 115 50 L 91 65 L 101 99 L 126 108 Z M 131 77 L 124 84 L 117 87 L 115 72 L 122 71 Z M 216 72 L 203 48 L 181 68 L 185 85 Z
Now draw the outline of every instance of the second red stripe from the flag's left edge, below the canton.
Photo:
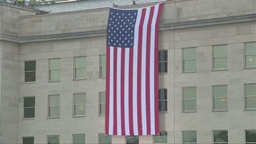
M 116 67 L 117 67 L 117 49 L 116 47 L 114 47 L 114 132 L 113 134 L 116 135 L 117 134 L 117 100 L 116 100 Z

